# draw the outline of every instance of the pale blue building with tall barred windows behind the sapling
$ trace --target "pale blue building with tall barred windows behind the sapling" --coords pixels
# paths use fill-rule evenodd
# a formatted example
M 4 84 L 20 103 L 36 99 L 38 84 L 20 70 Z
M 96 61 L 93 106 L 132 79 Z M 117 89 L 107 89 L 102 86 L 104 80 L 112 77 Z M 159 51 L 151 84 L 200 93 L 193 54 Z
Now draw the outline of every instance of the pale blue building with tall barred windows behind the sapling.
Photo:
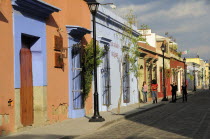
M 96 16 L 96 36 L 100 47 L 104 48 L 102 64 L 98 67 L 99 110 L 107 111 L 121 106 L 138 103 L 137 81 L 129 72 L 130 64 L 123 54 L 123 30 L 126 21 L 100 6 Z M 133 35 L 140 34 L 133 26 Z M 120 97 L 122 90 L 122 95 Z

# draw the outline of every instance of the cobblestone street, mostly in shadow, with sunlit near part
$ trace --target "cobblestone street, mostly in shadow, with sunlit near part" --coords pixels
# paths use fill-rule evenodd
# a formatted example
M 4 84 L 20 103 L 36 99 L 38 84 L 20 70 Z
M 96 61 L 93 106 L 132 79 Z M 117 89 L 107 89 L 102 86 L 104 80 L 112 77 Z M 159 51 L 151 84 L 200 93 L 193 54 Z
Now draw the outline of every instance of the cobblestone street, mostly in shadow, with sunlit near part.
M 166 103 L 79 138 L 209 139 L 209 122 L 210 91 L 203 90 L 188 97 L 187 103 L 182 103 L 182 99 L 177 103 Z

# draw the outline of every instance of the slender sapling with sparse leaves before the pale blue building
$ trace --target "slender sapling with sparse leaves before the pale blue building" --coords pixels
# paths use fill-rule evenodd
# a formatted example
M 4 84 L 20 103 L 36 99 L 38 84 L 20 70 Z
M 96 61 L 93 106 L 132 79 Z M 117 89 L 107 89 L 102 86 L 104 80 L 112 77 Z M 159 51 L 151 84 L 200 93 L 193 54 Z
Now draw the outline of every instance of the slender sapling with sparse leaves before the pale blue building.
M 133 14 L 133 11 L 130 10 L 128 14 L 125 15 L 126 23 L 122 28 L 122 34 L 120 35 L 121 44 L 124 46 L 122 48 L 122 57 L 119 59 L 120 63 L 120 75 L 121 75 L 121 92 L 120 97 L 118 101 L 118 114 L 120 113 L 120 106 L 121 106 L 121 99 L 122 99 L 122 66 L 123 66 L 123 58 L 128 55 L 127 60 L 130 63 L 130 73 L 134 74 L 134 77 L 137 81 L 137 91 L 139 95 L 139 104 L 142 101 L 141 94 L 140 94 L 140 87 L 139 87 L 139 76 L 140 76 L 140 64 L 138 63 L 138 58 L 140 57 L 139 52 L 139 45 L 138 41 L 145 41 L 145 38 L 142 38 L 141 36 L 134 36 L 133 34 L 133 25 L 136 23 L 136 17 Z M 145 26 L 147 27 L 147 26 Z

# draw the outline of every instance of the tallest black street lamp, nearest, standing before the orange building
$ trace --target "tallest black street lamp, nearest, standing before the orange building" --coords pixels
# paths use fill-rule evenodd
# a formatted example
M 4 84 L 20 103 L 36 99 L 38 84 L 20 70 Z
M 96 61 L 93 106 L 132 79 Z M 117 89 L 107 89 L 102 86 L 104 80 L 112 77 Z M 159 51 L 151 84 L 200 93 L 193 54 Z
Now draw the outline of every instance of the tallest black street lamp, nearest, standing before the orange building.
M 88 4 L 90 12 L 93 18 L 93 54 L 94 54 L 94 115 L 89 122 L 103 122 L 105 121 L 99 114 L 98 104 L 98 89 L 97 89 L 97 66 L 96 66 L 96 13 L 98 11 L 99 4 L 96 0 L 85 0 Z

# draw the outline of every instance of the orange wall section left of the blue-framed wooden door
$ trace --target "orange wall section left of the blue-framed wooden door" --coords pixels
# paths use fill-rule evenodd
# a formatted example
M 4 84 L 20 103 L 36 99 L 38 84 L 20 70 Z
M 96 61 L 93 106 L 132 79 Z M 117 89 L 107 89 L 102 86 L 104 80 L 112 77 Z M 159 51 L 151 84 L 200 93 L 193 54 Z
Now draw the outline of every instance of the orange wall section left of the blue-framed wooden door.
M 0 125 L 0 135 L 2 130 L 6 133 L 14 130 L 14 106 L 8 106 L 8 100 L 14 100 L 12 29 L 11 1 L 0 0 L 0 120 L 3 120 Z

